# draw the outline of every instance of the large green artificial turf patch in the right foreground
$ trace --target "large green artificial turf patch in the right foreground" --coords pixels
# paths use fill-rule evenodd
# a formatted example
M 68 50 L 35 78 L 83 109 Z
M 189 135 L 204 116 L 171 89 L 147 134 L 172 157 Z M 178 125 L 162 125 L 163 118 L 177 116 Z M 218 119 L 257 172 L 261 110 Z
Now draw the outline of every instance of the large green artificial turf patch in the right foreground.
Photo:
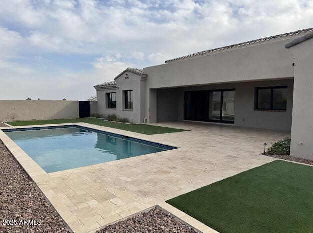
M 276 160 L 170 199 L 222 232 L 313 232 L 313 167 Z

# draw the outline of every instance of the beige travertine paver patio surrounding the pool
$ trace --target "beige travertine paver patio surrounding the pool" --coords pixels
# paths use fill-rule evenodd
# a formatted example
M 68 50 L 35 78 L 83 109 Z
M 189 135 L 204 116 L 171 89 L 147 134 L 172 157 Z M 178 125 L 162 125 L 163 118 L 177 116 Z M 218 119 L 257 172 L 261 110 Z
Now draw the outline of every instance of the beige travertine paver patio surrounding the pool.
M 179 148 L 46 173 L 0 131 L 0 139 L 74 232 L 95 231 L 157 204 L 199 230 L 212 232 L 164 201 L 275 160 L 260 155 L 263 143 L 289 136 L 284 131 L 193 122 L 159 123 L 190 131 L 157 135 L 79 125 Z

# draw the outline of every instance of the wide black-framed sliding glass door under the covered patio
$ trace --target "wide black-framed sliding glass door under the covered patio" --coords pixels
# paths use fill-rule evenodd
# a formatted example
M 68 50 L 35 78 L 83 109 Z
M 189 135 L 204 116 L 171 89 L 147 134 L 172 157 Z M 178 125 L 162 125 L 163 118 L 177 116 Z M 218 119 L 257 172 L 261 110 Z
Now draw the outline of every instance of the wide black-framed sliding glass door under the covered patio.
M 185 92 L 185 119 L 234 123 L 235 90 Z

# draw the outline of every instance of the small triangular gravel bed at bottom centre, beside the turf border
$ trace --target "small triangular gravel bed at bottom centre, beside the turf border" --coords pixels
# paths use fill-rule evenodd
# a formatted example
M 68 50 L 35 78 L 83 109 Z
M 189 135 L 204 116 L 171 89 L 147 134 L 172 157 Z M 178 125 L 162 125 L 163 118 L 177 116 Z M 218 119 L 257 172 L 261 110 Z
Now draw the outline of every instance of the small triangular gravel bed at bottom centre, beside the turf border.
M 199 233 L 159 208 L 106 226 L 96 233 Z

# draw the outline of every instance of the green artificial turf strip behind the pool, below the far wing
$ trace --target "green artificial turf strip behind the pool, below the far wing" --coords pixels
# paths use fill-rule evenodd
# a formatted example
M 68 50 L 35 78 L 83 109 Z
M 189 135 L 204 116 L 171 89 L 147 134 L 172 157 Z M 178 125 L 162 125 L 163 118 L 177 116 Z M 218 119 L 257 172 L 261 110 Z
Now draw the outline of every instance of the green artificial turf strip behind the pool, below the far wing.
M 89 124 L 96 124 L 100 126 L 122 129 L 131 132 L 137 132 L 142 134 L 161 134 L 187 131 L 177 128 L 168 128 L 161 126 L 154 126 L 148 124 L 124 124 L 119 122 L 106 121 L 98 118 L 77 118 L 77 119 L 56 119 L 56 120 L 29 120 L 29 121 L 11 121 L 7 122 L 12 126 L 26 126 L 26 125 L 40 125 L 40 124 L 64 124 L 64 123 L 78 123 L 84 122 Z

